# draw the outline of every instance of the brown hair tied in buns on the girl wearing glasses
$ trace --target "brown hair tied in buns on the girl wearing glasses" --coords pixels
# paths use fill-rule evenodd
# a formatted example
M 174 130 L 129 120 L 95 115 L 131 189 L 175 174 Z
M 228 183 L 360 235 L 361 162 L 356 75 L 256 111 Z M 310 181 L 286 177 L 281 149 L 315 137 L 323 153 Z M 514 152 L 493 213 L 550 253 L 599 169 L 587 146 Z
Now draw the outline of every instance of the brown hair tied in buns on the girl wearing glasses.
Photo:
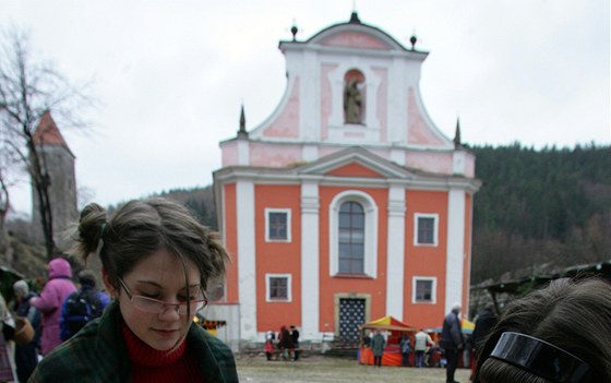
M 200 271 L 200 285 L 225 275 L 229 261 L 218 235 L 199 224 L 182 205 L 161 198 L 130 201 L 109 219 L 104 207 L 88 204 L 81 212 L 72 252 L 86 259 L 99 254 L 110 282 L 128 274 L 159 250 L 185 260 Z

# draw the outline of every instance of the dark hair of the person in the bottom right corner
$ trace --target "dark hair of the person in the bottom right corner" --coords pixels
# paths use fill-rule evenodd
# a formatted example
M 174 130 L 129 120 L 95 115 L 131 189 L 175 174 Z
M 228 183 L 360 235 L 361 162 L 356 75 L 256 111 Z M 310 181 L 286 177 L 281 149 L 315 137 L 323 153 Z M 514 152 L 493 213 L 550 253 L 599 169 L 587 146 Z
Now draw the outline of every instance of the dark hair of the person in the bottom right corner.
M 512 301 L 483 345 L 475 382 L 549 383 L 526 369 L 490 357 L 506 332 L 530 335 L 587 362 L 597 376 L 582 383 L 611 382 L 611 285 L 603 279 L 558 279 Z

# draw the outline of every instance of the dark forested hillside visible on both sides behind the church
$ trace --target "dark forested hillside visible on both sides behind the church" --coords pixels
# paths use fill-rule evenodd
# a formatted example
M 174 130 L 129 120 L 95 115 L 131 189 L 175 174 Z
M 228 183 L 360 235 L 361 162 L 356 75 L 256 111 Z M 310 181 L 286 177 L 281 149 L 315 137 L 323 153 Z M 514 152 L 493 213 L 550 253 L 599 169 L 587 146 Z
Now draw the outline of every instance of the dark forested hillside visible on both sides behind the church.
M 541 264 L 611 260 L 611 147 L 469 149 L 483 182 L 474 204 L 472 284 Z M 211 187 L 161 195 L 216 228 Z

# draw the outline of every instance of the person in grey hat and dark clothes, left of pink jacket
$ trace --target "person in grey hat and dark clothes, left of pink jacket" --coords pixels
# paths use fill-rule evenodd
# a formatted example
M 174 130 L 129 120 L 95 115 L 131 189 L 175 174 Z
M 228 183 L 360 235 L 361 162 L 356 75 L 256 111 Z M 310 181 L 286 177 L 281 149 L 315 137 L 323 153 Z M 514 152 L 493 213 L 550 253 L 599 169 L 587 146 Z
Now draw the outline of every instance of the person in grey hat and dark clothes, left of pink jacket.
M 15 292 L 14 311 L 17 316 L 27 318 L 34 328 L 34 337 L 27 345 L 15 344 L 15 367 L 17 380 L 27 382 L 29 375 L 38 364 L 38 350 L 40 347 L 40 313 L 36 308 L 29 304 L 29 298 L 36 297 L 36 294 L 29 291 L 29 286 L 23 279 L 13 284 Z

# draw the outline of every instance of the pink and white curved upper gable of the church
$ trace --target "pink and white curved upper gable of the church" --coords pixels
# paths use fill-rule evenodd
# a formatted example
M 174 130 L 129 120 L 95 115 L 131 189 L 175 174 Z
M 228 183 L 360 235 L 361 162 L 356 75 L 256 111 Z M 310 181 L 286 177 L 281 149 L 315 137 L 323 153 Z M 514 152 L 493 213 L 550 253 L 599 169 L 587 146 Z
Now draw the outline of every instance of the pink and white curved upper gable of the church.
M 475 156 L 445 136 L 424 108 L 419 82 L 428 52 L 416 49 L 415 36 L 411 44 L 408 49 L 361 23 L 356 12 L 307 40 L 280 41 L 287 77 L 280 103 L 261 124 L 249 132 L 244 124 L 220 143 L 223 166 L 292 167 L 359 145 L 404 170 L 474 177 Z M 325 171 L 335 176 L 330 171 L 337 168 Z

